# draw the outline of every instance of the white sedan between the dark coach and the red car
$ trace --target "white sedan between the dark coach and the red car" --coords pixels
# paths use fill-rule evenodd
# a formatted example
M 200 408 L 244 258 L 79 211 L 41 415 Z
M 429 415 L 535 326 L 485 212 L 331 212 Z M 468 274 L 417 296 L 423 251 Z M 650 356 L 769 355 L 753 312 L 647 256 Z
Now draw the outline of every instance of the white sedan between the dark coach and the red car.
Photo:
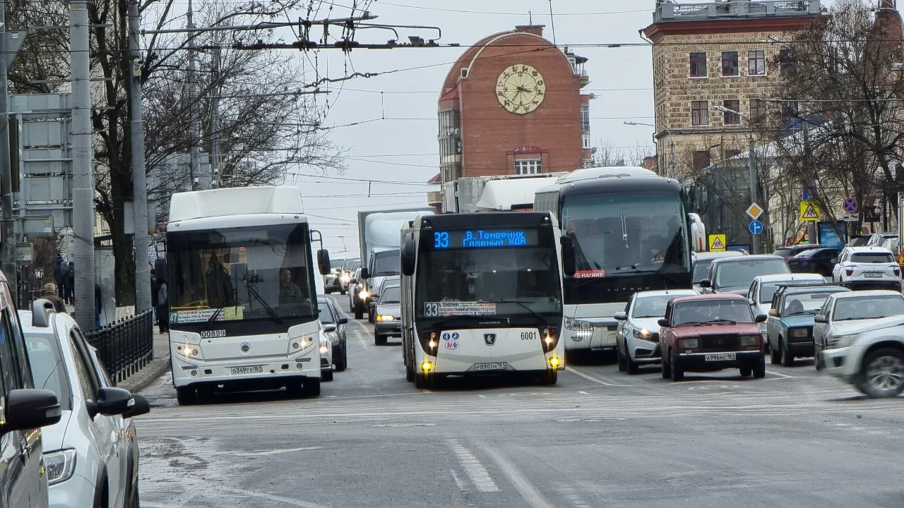
M 696 294 L 693 289 L 679 289 L 643 291 L 631 296 L 627 302 L 627 311 L 613 316 L 618 321 L 618 370 L 636 374 L 640 365 L 661 363 L 658 321 L 665 315 L 665 306 L 675 296 Z

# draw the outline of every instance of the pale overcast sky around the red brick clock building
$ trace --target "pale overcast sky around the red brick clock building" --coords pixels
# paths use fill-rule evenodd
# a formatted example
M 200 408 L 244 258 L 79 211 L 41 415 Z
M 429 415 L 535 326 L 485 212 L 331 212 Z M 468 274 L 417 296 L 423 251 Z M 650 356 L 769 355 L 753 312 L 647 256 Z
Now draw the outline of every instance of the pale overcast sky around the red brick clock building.
M 349 2 L 336 2 L 340 4 Z M 560 45 L 642 42 L 637 31 L 650 24 L 653 7 L 654 0 L 552 0 L 556 42 Z M 532 11 L 533 23 L 545 24 L 544 35 L 552 38 L 547 0 L 377 0 L 371 11 L 380 16 L 376 23 L 439 26 L 440 42 L 458 42 L 463 46 L 486 35 L 511 30 L 517 24 L 528 24 L 528 11 Z M 400 38 L 407 41 L 408 35 L 416 34 L 427 40 L 435 37 L 435 33 L 402 31 Z M 390 38 L 390 32 L 374 30 L 359 31 L 357 35 L 360 42 L 386 42 Z M 334 142 L 349 150 L 348 172 L 333 176 L 352 181 L 297 177 L 297 184 L 306 196 L 306 212 L 312 227 L 324 233 L 325 247 L 333 258 L 357 255 L 358 210 L 426 204 L 426 193 L 431 187 L 422 183 L 438 173 L 439 89 L 452 63 L 463 51 L 462 48 L 355 51 L 348 60 L 349 72 L 419 69 L 348 80 L 343 85 L 334 84 L 332 94 L 320 96 L 328 97 L 331 102 L 327 125 L 345 126 L 372 120 L 332 131 Z M 586 67 L 590 84 L 584 91 L 597 98 L 590 103 L 594 143 L 611 140 L 612 145 L 628 149 L 649 146 L 652 154 L 653 128 L 628 127 L 622 123 L 625 120 L 653 123 L 650 49 L 577 47 L 574 51 L 589 58 Z M 344 75 L 346 58 L 341 52 L 320 52 L 319 61 L 322 75 Z M 299 172 L 313 173 L 305 169 Z M 373 183 L 369 185 L 368 180 Z M 371 197 L 367 197 L 369 186 Z

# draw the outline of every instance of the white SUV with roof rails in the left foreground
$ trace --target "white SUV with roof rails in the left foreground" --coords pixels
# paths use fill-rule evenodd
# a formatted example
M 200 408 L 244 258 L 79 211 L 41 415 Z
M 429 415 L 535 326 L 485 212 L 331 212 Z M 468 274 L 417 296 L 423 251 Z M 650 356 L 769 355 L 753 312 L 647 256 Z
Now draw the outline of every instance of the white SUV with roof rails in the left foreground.
M 60 422 L 43 428 L 49 506 L 138 507 L 138 443 L 132 417 L 150 410 L 141 395 L 114 388 L 69 315 L 48 300 L 19 311 L 40 388 L 60 400 Z

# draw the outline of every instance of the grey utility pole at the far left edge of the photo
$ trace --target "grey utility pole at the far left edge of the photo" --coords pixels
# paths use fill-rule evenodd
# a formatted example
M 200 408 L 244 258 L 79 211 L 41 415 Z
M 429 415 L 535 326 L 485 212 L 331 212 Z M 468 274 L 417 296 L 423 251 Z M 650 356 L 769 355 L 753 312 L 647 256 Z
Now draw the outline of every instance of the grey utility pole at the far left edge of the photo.
M 16 283 L 15 222 L 13 218 L 13 168 L 9 160 L 9 90 L 6 81 L 6 2 L 0 0 L 0 267 L 9 280 L 13 301 L 19 302 Z M 18 169 L 16 169 L 18 171 Z

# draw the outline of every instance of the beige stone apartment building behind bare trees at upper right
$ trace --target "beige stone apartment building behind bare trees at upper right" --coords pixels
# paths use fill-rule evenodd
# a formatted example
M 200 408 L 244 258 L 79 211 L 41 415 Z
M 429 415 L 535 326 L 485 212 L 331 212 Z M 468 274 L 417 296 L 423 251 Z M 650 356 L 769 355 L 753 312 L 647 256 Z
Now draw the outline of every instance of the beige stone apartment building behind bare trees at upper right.
M 653 42 L 661 174 L 683 178 L 746 152 L 749 118 L 782 108 L 759 99 L 777 96 L 793 64 L 784 42 L 820 15 L 820 0 L 658 0 L 643 32 Z

